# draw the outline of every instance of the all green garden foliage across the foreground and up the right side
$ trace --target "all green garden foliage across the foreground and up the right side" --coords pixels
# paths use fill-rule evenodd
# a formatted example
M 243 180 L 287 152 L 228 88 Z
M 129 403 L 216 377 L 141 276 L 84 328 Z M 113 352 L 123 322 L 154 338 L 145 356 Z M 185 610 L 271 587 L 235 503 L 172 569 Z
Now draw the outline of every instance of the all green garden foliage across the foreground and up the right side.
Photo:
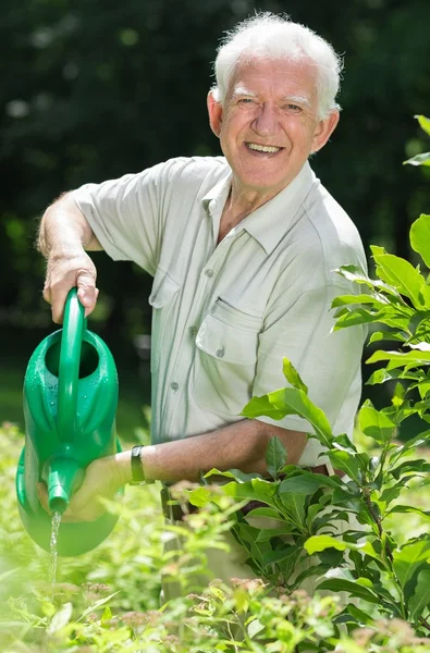
M 419 122 L 430 135 L 428 119 L 419 116 Z M 430 155 L 409 161 L 429 162 Z M 107 502 L 107 509 L 121 517 L 113 534 L 83 557 L 62 559 L 61 582 L 52 588 L 46 582 L 48 555 L 23 533 L 17 517 L 13 476 L 22 435 L 13 424 L 3 424 L 0 650 L 430 652 L 430 510 L 420 505 L 430 486 L 429 236 L 430 215 L 421 215 L 411 226 L 410 245 L 422 269 L 373 247 L 377 280 L 351 266 L 337 271 L 364 292 L 334 300 L 335 329 L 368 323 L 373 328 L 370 342 L 395 344 L 369 359 L 381 367 L 368 382 L 393 385 L 389 406 L 378 410 L 366 402 L 359 411 L 359 430 L 370 445 L 358 446 L 346 434 L 332 432 L 287 359 L 286 386 L 254 397 L 243 411 L 248 418 L 307 419 L 309 436 L 323 444 L 342 478 L 290 465 L 287 452 L 273 438 L 267 452 L 271 479 L 230 470 L 224 485 L 211 486 L 212 470 L 207 485 L 177 488 L 179 501 L 200 507 L 186 516 L 187 528 L 165 529 L 157 489 L 135 488 L 121 505 Z M 414 415 L 422 420 L 422 432 L 398 442 L 398 427 Z M 238 508 L 249 501 L 261 505 L 244 517 Z M 265 519 L 269 527 L 261 526 Z M 208 578 L 199 586 L 196 575 L 205 574 L 205 551 L 223 546 L 226 528 L 248 550 L 258 578 L 230 586 Z M 177 529 L 182 550 L 163 551 L 162 539 Z M 158 608 L 160 577 L 179 581 L 183 597 Z M 312 597 L 299 589 L 310 580 L 317 588 Z

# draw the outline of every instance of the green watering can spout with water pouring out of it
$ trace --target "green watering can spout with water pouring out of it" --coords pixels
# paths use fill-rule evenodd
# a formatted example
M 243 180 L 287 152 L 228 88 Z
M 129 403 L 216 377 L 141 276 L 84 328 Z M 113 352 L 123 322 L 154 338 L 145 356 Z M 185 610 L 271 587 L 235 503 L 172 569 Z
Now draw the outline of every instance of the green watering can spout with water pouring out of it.
M 47 466 L 48 503 L 51 513 L 63 514 L 81 485 L 84 470 L 73 458 L 54 458 Z

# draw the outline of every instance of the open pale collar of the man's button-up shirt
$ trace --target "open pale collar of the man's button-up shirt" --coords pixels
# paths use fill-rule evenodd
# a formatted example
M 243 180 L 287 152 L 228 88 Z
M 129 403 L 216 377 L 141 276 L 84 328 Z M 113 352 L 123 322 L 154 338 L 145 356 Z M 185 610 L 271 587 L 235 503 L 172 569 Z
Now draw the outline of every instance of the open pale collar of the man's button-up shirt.
M 246 230 L 266 254 L 271 254 L 292 223 L 294 215 L 308 195 L 316 176 L 308 163 L 304 164 L 297 176 L 272 199 L 244 218 L 235 232 Z M 213 229 L 219 229 L 224 204 L 229 197 L 232 172 L 220 180 L 201 199 L 201 205 L 212 217 Z M 218 231 L 216 236 L 218 235 Z

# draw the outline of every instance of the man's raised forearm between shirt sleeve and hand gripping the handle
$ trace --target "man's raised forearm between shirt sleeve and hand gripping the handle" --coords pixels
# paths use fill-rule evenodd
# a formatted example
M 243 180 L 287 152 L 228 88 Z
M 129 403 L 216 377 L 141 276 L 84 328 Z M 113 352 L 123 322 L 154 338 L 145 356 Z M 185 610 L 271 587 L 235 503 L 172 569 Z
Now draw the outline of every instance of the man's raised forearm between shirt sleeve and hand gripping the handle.
M 45 258 L 73 257 L 82 249 L 101 249 L 73 194 L 63 195 L 45 211 L 38 249 Z

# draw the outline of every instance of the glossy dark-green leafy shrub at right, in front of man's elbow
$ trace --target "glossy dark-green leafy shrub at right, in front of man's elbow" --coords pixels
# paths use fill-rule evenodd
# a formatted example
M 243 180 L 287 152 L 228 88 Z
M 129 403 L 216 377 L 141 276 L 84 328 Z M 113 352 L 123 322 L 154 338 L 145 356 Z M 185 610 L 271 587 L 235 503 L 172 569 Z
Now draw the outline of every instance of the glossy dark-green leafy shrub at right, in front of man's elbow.
M 430 121 L 418 120 L 430 135 Z M 429 162 L 430 153 L 408 161 Z M 410 245 L 427 267 L 429 236 L 430 215 L 422 214 L 411 225 Z M 234 526 L 255 574 L 288 592 L 317 577 L 318 590 L 347 593 L 352 601 L 334 621 L 346 624 L 349 631 L 357 626 L 373 627 L 374 618 L 382 616 L 403 619 L 417 636 L 429 637 L 430 535 L 423 531 L 402 539 L 392 523 L 396 517 L 410 515 L 422 522 L 430 519 L 430 510 L 411 505 L 405 494 L 408 488 L 421 490 L 428 483 L 430 463 L 423 447 L 430 442 L 430 431 L 403 444 L 396 441 L 406 418 L 415 415 L 422 423 L 430 422 L 430 278 L 419 266 L 382 247 L 371 251 L 378 279 L 353 266 L 341 268 L 339 274 L 363 285 L 365 292 L 337 297 L 332 307 L 336 309 L 335 330 L 377 323 L 380 326 L 371 343 L 401 344 L 400 349 L 378 350 L 368 360 L 384 364 L 368 383 L 395 382 L 391 405 L 377 410 L 365 402 L 359 411 L 359 428 L 373 443 L 372 451 L 359 451 L 346 434 L 332 433 L 297 371 L 284 359 L 287 386 L 254 397 L 243 415 L 305 418 L 314 429 L 310 438 L 319 440 L 333 467 L 346 476 L 325 477 L 288 465 L 285 449 L 273 438 L 267 453 L 272 478 L 230 470 L 223 475 L 231 479 L 223 491 L 236 501 L 263 504 L 246 518 L 238 514 Z M 422 455 L 416 457 L 417 451 Z M 207 477 L 212 473 L 220 472 L 212 470 Z M 256 526 L 255 518 L 269 518 L 271 523 Z M 302 568 L 298 575 L 297 567 Z

